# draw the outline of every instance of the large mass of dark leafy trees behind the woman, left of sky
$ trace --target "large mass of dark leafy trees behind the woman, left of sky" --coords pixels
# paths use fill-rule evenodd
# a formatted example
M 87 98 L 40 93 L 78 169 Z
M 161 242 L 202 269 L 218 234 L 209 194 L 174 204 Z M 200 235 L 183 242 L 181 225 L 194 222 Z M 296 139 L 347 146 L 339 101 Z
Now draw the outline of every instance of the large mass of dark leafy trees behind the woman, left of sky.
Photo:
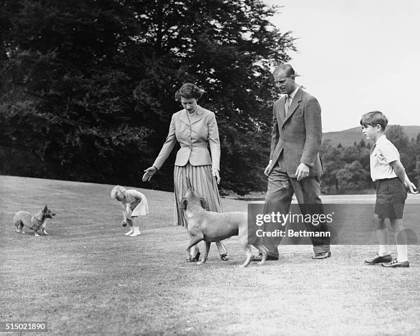
M 0 142 L 36 162 L 14 173 L 137 185 L 180 109 L 174 92 L 194 82 L 224 139 L 221 187 L 265 189 L 277 96 L 270 69 L 295 50 L 290 32 L 268 21 L 275 8 L 259 0 L 6 0 L 2 13 Z M 172 166 L 173 156 L 148 186 L 172 189 Z

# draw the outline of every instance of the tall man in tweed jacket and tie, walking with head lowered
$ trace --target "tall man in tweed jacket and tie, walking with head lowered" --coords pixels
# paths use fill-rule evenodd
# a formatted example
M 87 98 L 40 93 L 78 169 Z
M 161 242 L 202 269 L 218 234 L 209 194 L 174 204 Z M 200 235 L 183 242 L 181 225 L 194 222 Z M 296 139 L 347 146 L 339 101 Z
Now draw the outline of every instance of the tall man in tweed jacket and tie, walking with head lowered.
M 321 110 L 318 100 L 306 93 L 295 82 L 294 69 L 282 64 L 273 73 L 283 96 L 273 106 L 273 128 L 270 163 L 264 173 L 268 176 L 268 189 L 264 213 L 287 214 L 293 194 L 301 213 L 323 213 L 320 194 L 319 147 L 322 138 Z M 307 223 L 307 231 L 328 231 L 326 225 Z M 268 223 L 264 230 L 283 229 L 279 223 Z M 312 237 L 313 259 L 331 256 L 329 237 Z M 268 260 L 279 259 L 277 245 L 281 237 L 264 237 Z

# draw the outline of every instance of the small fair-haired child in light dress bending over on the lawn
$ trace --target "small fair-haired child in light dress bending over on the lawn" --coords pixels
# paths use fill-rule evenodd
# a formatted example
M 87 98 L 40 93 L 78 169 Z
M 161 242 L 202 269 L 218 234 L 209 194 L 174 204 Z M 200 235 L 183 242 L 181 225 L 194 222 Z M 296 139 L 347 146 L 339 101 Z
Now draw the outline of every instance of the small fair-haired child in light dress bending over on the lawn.
M 141 235 L 139 230 L 139 216 L 149 213 L 148 200 L 145 195 L 135 189 L 125 189 L 121 186 L 115 186 L 111 191 L 111 198 L 121 202 L 123 208 L 122 226 L 130 226 L 130 231 L 124 235 L 136 237 Z M 134 224 L 134 226 L 133 226 Z M 133 229 L 134 228 L 134 229 Z

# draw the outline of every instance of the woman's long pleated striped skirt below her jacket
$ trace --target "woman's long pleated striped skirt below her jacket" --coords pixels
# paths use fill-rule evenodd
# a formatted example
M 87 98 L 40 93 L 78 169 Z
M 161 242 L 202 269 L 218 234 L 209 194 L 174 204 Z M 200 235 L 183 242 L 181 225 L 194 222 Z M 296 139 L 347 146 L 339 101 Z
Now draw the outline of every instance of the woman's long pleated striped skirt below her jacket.
M 191 187 L 200 197 L 204 198 L 209 205 L 210 211 L 222 212 L 222 203 L 218 184 L 211 173 L 211 165 L 193 166 L 187 163 L 185 166 L 175 166 L 174 168 L 174 189 L 175 189 L 175 207 L 176 224 L 187 227 L 185 220 L 185 211 L 179 208 L 180 201 L 187 193 L 187 178 L 191 182 Z

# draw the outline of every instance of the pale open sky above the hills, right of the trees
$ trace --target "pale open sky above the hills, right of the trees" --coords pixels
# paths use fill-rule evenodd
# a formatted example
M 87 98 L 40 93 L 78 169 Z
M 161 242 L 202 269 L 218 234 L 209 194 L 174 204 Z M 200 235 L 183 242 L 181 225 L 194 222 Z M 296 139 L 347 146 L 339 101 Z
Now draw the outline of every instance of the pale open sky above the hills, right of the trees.
M 420 125 L 420 1 L 264 0 L 292 31 L 290 64 L 320 102 L 323 132 L 360 126 L 380 110 L 390 125 Z

